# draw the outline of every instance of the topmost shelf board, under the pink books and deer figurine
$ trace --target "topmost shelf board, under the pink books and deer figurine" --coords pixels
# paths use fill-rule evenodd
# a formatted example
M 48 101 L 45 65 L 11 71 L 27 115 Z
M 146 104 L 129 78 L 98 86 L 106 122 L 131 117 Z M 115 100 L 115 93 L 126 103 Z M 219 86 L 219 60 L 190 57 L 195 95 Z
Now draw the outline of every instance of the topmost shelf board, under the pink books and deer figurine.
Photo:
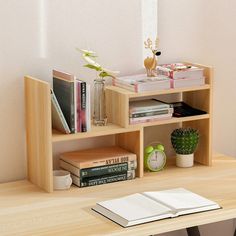
M 124 95 L 127 95 L 129 98 L 139 98 L 139 97 L 157 96 L 157 95 L 162 95 L 162 94 L 172 94 L 172 93 L 182 93 L 182 92 L 207 90 L 207 89 L 210 89 L 210 85 L 205 84 L 205 85 L 202 85 L 202 86 L 195 86 L 195 87 L 189 87 L 189 88 L 166 89 L 166 90 L 142 92 L 142 93 L 131 92 L 131 91 L 128 91 L 126 89 L 122 89 L 122 88 L 119 88 L 119 87 L 116 87 L 116 86 L 108 86 L 106 89 L 111 89 L 111 90 L 120 92 Z

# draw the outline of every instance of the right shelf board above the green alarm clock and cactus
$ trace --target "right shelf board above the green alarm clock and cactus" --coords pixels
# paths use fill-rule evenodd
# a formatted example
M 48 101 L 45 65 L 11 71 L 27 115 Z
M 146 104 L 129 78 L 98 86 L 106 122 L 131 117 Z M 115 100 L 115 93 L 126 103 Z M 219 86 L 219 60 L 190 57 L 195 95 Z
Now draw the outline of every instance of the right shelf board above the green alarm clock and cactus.
M 174 124 L 174 123 L 180 123 L 180 122 L 186 122 L 186 121 L 194 121 L 194 120 L 203 120 L 203 119 L 209 119 L 210 115 L 205 114 L 205 115 L 198 115 L 198 116 L 188 116 L 188 117 L 182 117 L 182 118 L 176 118 L 172 117 L 171 119 L 166 119 L 166 120 L 158 120 L 154 122 L 146 122 L 146 123 L 141 123 L 137 125 L 129 125 L 129 127 L 148 127 L 148 126 L 156 126 L 156 125 L 165 125 L 165 124 Z

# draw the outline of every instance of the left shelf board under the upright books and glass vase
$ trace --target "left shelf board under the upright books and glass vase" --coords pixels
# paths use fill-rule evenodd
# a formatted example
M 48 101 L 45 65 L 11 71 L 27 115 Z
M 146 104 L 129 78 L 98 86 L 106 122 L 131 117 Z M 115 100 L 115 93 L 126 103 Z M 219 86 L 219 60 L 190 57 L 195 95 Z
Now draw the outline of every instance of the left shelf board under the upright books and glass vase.
M 76 133 L 76 134 L 63 134 L 57 130 L 52 130 L 52 142 L 61 142 L 61 141 L 70 141 L 76 139 L 84 139 L 105 135 L 113 135 L 120 133 L 128 133 L 132 131 L 138 131 L 140 127 L 130 127 L 128 129 L 122 128 L 118 125 L 108 124 L 106 126 L 92 126 L 91 131 L 84 133 Z

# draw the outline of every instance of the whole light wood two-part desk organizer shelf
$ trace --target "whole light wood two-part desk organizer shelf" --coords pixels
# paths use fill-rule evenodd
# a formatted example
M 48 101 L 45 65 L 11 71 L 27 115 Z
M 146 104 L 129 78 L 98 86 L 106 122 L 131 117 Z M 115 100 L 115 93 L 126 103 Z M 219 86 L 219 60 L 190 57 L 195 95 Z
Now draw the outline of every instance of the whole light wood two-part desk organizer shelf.
M 133 93 L 117 87 L 106 89 L 108 126 L 92 127 L 90 132 L 62 134 L 52 130 L 50 84 L 30 76 L 25 77 L 25 113 L 28 179 L 47 192 L 53 191 L 53 143 L 114 135 L 115 144 L 137 154 L 137 176 L 143 177 L 144 127 L 178 123 L 200 131 L 201 139 L 195 161 L 211 165 L 211 107 L 212 68 L 204 68 L 206 85 L 192 88 L 170 89 L 150 93 Z M 129 101 L 156 95 L 179 94 L 181 99 L 196 108 L 207 111 L 200 116 L 171 118 L 156 122 L 129 125 Z

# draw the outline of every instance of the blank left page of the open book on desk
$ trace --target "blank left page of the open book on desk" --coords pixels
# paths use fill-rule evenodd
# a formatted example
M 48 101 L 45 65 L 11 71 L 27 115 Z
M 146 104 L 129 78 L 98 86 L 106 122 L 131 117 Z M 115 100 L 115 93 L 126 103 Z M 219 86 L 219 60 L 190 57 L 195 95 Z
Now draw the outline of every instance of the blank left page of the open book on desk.
M 97 203 L 128 221 L 170 213 L 170 209 L 139 193 Z

